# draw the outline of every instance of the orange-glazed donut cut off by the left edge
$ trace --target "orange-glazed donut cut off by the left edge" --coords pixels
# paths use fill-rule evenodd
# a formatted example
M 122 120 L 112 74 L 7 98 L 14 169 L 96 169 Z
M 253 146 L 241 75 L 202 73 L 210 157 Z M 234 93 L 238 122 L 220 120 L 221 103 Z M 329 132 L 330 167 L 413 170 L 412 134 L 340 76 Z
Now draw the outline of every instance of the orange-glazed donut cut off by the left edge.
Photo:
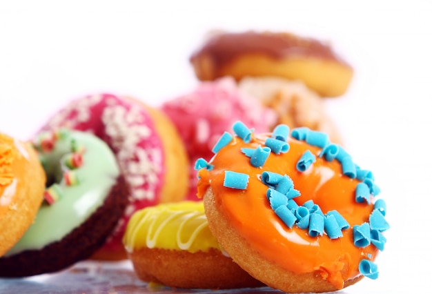
M 35 150 L 0 133 L 0 257 L 35 219 L 43 201 L 45 181 Z

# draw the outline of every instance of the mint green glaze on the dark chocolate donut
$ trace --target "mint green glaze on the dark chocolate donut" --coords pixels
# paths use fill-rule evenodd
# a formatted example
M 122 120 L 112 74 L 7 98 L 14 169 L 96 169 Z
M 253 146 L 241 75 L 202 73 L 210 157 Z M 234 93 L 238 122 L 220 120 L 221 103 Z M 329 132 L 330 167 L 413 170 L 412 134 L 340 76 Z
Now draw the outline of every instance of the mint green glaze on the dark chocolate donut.
M 62 162 L 71 152 L 72 141 L 84 146 L 84 164 L 74 169 L 79 184 L 68 186 L 63 179 L 66 167 Z M 48 153 L 41 153 L 40 157 L 48 177 L 58 184 L 61 199 L 52 205 L 41 206 L 35 222 L 6 256 L 37 250 L 62 239 L 104 204 L 119 176 L 117 161 L 111 150 L 104 141 L 88 133 L 62 133 L 54 148 Z

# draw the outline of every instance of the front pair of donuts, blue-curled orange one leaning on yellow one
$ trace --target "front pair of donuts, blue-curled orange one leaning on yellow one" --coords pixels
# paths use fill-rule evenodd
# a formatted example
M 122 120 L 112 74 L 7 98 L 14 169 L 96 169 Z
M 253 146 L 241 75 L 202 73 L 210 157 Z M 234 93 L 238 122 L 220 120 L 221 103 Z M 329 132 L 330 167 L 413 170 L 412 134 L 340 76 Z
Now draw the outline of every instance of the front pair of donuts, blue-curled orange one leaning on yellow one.
M 132 216 L 124 244 L 141 280 L 304 293 L 378 277 L 386 204 L 373 173 L 326 133 L 237 121 L 213 153 L 195 163 L 203 202 Z

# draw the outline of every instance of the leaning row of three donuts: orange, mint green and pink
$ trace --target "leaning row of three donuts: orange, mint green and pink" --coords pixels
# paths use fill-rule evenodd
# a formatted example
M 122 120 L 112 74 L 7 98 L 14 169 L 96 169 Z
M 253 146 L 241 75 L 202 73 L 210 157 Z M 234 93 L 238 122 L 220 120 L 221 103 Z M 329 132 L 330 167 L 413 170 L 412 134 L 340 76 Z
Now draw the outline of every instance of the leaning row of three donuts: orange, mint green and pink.
M 184 199 L 188 165 L 163 112 L 108 93 L 73 99 L 27 142 L 1 135 L 0 277 L 126 259 L 130 216 Z

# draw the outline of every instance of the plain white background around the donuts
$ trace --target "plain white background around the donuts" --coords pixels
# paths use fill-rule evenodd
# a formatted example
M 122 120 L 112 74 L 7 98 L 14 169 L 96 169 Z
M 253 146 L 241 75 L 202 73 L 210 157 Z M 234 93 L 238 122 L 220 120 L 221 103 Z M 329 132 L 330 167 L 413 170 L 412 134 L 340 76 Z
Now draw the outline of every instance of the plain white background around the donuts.
M 355 77 L 346 95 L 326 99 L 326 108 L 355 161 L 375 173 L 392 225 L 377 260 L 380 278 L 344 293 L 428 292 L 429 1 L 11 3 L 0 2 L 0 131 L 21 139 L 91 92 L 159 106 L 193 90 L 188 57 L 209 30 L 279 30 L 331 41 Z

